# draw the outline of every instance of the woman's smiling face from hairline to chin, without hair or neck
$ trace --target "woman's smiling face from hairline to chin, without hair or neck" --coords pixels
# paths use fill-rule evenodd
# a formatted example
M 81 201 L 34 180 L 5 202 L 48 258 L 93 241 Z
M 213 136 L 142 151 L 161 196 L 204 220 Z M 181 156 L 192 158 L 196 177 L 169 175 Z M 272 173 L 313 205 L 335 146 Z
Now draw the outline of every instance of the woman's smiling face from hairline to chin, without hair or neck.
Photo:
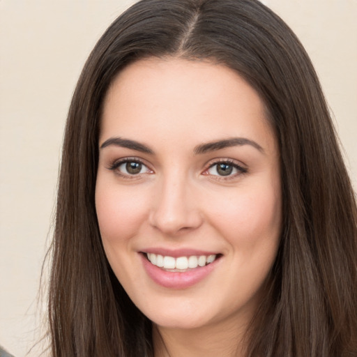
M 282 220 L 278 147 L 255 90 L 222 65 L 137 61 L 109 88 L 99 145 L 102 243 L 135 305 L 163 327 L 245 324 Z

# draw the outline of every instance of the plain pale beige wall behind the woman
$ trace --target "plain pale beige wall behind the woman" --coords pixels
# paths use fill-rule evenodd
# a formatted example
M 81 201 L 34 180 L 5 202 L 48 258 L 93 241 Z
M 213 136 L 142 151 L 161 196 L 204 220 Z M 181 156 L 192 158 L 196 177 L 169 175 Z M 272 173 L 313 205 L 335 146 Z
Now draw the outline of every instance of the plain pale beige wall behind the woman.
M 96 40 L 132 2 L 0 0 L 0 344 L 17 357 L 40 333 L 40 269 L 70 97 Z M 312 57 L 356 188 L 357 0 L 263 2 Z

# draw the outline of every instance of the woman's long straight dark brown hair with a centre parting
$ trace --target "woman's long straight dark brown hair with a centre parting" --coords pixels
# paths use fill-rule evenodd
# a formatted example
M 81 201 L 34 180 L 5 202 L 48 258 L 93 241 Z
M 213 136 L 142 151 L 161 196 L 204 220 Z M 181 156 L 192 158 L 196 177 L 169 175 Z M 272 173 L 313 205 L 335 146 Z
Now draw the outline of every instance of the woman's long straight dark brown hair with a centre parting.
M 331 117 L 294 33 L 257 0 L 143 0 L 86 61 L 70 105 L 52 244 L 52 356 L 152 356 L 151 322 L 102 248 L 94 192 L 103 98 L 148 56 L 208 59 L 264 100 L 280 146 L 283 226 L 248 356 L 357 355 L 357 212 Z M 122 224 L 125 224 L 123 222 Z

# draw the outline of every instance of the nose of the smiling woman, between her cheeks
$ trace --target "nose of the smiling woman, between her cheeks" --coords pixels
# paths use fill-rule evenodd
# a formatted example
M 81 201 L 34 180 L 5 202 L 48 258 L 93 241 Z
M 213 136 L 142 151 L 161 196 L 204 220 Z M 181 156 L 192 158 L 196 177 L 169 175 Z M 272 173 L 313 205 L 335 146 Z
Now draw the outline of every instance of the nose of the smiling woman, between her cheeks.
M 183 175 L 172 174 L 158 185 L 149 220 L 162 234 L 176 236 L 202 225 L 198 197 L 188 181 Z

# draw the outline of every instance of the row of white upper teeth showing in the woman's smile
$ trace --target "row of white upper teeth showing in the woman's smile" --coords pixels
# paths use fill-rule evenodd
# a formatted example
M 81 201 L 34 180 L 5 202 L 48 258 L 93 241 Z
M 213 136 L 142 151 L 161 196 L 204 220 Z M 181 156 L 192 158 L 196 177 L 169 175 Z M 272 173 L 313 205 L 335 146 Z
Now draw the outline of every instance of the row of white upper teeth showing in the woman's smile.
M 153 253 L 146 253 L 151 264 L 164 269 L 177 269 L 179 271 L 185 271 L 188 268 L 194 269 L 197 266 L 205 266 L 207 264 L 213 263 L 215 261 L 216 255 L 191 255 L 190 257 L 169 257 L 162 255 L 155 255 Z

